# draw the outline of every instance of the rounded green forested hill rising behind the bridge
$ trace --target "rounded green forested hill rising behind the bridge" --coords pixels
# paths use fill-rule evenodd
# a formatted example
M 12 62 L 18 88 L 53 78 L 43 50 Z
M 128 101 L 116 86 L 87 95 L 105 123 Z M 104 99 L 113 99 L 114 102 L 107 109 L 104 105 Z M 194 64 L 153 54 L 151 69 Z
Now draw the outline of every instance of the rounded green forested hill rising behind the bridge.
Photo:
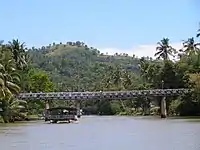
M 50 74 L 58 90 L 93 91 L 110 67 L 120 67 L 131 74 L 139 73 L 139 59 L 128 54 L 105 55 L 83 42 L 50 44 L 28 51 L 33 67 Z M 150 59 L 150 58 L 147 58 Z

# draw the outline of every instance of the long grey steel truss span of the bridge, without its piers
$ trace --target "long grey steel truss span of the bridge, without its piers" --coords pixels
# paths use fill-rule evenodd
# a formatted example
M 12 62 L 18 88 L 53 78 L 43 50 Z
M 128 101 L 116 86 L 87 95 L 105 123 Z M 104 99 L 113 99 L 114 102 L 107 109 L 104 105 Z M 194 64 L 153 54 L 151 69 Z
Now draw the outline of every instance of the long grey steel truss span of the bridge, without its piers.
M 191 89 L 152 89 L 103 92 L 20 93 L 17 98 L 22 100 L 126 100 L 134 97 L 179 96 L 190 91 Z

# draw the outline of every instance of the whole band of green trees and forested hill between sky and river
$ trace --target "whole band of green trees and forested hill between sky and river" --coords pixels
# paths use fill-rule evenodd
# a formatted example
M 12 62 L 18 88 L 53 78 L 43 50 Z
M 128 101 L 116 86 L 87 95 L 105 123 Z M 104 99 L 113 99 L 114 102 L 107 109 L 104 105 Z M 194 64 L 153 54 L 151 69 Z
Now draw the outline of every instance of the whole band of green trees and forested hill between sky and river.
M 0 43 L 0 115 L 4 122 L 42 114 L 43 101 L 15 98 L 20 92 L 120 91 L 157 88 L 193 88 L 192 93 L 167 98 L 169 115 L 200 114 L 200 47 L 195 37 L 174 49 L 168 38 L 157 43 L 155 56 L 135 58 L 108 56 L 83 42 L 59 43 L 27 48 L 19 40 Z M 170 56 L 178 57 L 177 61 Z M 52 101 L 52 106 L 75 105 L 74 101 Z M 157 115 L 159 97 L 137 97 L 125 101 L 85 101 L 86 114 Z

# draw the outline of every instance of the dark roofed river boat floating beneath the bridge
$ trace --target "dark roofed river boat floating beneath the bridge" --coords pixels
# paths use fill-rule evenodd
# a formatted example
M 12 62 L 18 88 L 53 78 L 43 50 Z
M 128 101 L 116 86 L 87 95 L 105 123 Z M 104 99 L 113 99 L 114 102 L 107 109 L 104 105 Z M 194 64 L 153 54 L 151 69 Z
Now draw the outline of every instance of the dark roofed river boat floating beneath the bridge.
M 45 112 L 45 121 L 50 123 L 78 121 L 80 110 L 75 107 L 54 107 Z

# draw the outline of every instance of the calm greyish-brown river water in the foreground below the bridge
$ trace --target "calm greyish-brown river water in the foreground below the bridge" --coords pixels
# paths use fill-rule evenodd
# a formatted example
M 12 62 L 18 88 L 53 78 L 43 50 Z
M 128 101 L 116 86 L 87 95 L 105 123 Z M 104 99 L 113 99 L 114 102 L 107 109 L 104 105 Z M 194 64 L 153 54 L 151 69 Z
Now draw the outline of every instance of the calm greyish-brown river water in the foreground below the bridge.
M 79 123 L 44 121 L 0 126 L 1 150 L 200 150 L 200 122 L 84 116 Z

